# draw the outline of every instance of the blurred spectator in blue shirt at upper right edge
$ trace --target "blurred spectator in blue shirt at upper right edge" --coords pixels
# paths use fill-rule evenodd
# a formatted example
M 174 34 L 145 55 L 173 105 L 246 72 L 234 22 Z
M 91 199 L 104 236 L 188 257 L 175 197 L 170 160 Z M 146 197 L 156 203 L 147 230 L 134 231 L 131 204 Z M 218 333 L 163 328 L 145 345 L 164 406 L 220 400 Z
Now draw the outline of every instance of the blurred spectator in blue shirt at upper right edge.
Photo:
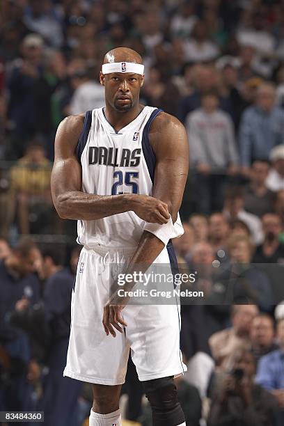
M 284 141 L 284 111 L 274 104 L 274 86 L 262 84 L 255 105 L 242 115 L 239 149 L 244 173 L 248 173 L 253 159 L 269 159 L 271 149 Z

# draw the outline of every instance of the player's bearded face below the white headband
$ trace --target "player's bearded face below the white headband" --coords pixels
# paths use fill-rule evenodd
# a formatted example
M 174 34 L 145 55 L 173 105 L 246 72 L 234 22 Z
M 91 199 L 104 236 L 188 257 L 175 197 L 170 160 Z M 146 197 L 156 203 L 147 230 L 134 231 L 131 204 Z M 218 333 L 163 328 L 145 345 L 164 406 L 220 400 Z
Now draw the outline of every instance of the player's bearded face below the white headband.
M 130 72 L 101 73 L 100 82 L 105 87 L 106 101 L 116 111 L 129 111 L 139 102 L 143 76 Z

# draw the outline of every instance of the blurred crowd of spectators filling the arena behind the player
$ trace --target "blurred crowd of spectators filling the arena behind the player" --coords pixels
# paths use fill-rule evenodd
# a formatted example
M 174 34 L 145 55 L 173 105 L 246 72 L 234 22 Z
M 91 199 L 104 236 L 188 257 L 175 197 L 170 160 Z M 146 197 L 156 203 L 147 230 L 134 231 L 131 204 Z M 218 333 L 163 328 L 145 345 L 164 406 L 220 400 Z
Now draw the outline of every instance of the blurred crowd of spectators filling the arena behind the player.
M 189 136 L 174 245 L 205 299 L 182 306 L 187 425 L 283 425 L 284 1 L 1 0 L 0 33 L 0 411 L 88 417 L 90 388 L 62 377 L 79 248 L 59 242 L 76 227 L 49 182 L 56 127 L 104 106 L 102 58 L 126 46 L 143 56 L 141 103 Z M 124 392 L 149 425 L 131 362 Z

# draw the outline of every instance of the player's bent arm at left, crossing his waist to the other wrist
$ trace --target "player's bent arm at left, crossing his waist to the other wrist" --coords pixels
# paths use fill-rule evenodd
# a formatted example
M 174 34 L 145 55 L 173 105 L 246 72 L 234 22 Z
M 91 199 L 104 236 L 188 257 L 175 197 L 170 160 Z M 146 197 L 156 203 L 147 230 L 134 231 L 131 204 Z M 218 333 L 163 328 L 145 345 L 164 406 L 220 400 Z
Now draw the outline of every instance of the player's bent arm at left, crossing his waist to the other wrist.
M 51 183 L 52 199 L 59 216 L 88 221 L 133 210 L 145 221 L 166 223 L 166 204 L 153 197 L 98 196 L 81 191 L 81 166 L 75 150 L 83 123 L 83 115 L 70 116 L 63 120 L 56 133 Z

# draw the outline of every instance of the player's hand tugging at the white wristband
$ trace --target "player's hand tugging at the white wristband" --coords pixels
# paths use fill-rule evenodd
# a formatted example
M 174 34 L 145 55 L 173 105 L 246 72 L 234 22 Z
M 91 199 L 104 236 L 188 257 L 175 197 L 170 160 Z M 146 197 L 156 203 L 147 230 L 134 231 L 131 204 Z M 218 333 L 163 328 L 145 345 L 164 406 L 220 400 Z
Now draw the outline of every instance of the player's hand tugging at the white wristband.
M 168 205 L 151 196 L 136 196 L 133 210 L 143 221 L 159 223 L 160 225 L 167 223 L 171 217 L 168 213 Z

